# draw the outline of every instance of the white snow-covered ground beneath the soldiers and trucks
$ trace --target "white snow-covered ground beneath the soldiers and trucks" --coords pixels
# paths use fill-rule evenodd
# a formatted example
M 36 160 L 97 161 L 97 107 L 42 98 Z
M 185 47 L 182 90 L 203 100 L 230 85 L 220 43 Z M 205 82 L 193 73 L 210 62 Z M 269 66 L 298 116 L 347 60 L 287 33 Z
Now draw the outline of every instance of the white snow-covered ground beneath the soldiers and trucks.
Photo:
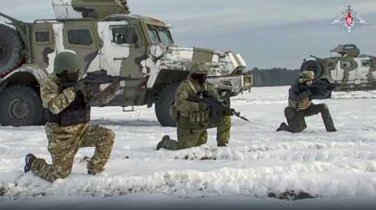
M 283 205 L 285 201 L 269 197 L 287 191 L 308 193 L 321 202 L 367 200 L 376 206 L 376 91 L 339 92 L 329 100 L 315 101 L 329 105 L 336 133 L 325 132 L 320 116 L 308 118 L 308 129 L 301 134 L 274 132 L 285 121 L 287 91 L 288 87 L 254 88 L 234 98 L 233 107 L 251 123 L 233 118 L 228 148 L 218 148 L 216 130 L 210 130 L 205 146 L 156 151 L 164 134 L 174 139 L 176 134 L 174 128 L 159 126 L 153 109 L 136 107 L 135 112 L 122 113 L 120 107 L 95 108 L 93 123 L 117 135 L 107 170 L 86 175 L 86 157 L 93 148 L 80 149 L 72 175 L 54 184 L 22 171 L 29 152 L 51 160 L 44 128 L 2 127 L 0 209 L 25 202 L 56 207 L 51 200 L 61 204 L 70 200 L 79 207 L 85 200 L 104 197 L 193 203 L 242 198 Z M 288 202 L 292 203 L 304 204 Z

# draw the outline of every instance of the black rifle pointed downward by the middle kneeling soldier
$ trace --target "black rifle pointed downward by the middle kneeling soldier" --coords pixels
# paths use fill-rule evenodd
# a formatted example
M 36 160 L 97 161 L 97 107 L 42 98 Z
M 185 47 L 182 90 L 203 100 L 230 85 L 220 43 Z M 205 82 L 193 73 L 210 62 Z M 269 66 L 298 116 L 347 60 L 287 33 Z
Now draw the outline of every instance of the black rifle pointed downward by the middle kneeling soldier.
M 204 94 L 198 94 L 196 96 L 190 97 L 188 100 L 196 103 L 203 103 L 210 106 L 210 116 L 216 118 L 222 114 L 229 114 L 230 116 L 237 116 L 240 119 L 249 122 L 249 119 L 246 119 L 244 116 L 240 116 L 240 112 L 236 112 L 234 109 L 227 107 L 220 100 L 215 98 L 205 96 Z

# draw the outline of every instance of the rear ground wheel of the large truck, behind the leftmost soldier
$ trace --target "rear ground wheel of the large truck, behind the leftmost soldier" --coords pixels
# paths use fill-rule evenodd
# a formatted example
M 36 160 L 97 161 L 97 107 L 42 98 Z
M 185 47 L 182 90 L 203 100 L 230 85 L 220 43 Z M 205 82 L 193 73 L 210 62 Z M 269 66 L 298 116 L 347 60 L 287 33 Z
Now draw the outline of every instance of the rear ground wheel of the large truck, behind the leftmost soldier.
M 16 85 L 1 94 L 0 125 L 44 125 L 45 114 L 38 93 L 31 87 Z

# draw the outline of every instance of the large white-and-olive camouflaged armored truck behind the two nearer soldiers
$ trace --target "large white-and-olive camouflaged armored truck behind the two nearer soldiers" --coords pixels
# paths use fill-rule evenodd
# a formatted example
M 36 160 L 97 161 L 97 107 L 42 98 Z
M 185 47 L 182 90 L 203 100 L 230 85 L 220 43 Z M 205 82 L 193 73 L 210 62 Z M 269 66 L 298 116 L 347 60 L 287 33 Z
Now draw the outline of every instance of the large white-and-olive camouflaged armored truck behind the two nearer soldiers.
M 155 105 L 164 126 L 175 125 L 169 109 L 193 62 L 210 65 L 208 80 L 223 96 L 251 88 L 251 76 L 242 75 L 246 62 L 240 54 L 178 47 L 169 23 L 131 14 L 125 0 L 55 0 L 52 6 L 56 19 L 32 23 L 0 13 L 10 21 L 0 24 L 1 125 L 45 123 L 40 84 L 52 73 L 56 54 L 66 49 L 79 55 L 81 77 L 106 70 L 129 78 L 120 83 L 114 100 L 94 106 L 133 110 Z

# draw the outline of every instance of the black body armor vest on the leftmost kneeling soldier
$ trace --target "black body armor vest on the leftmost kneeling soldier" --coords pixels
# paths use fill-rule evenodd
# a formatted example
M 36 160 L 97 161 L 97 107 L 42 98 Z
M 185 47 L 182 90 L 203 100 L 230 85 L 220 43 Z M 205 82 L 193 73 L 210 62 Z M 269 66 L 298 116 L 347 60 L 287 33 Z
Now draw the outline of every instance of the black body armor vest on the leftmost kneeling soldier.
M 75 100 L 59 114 L 47 110 L 47 122 L 57 123 L 60 126 L 77 125 L 90 121 L 91 107 L 86 103 L 81 91 L 77 92 Z

